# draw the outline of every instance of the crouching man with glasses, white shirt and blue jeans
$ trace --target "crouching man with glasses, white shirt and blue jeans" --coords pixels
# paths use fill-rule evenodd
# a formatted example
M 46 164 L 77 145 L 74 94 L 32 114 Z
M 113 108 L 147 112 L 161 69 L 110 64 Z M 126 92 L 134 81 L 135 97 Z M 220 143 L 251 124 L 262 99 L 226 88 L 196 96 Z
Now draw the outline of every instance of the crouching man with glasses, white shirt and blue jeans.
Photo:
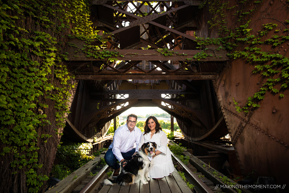
M 138 116 L 130 114 L 127 116 L 127 123 L 118 127 L 113 136 L 112 144 L 110 144 L 104 160 L 108 166 L 114 169 L 112 177 L 117 177 L 120 170 L 120 165 L 117 163 L 123 160 L 129 160 L 133 155 L 138 152 L 138 144 L 142 131 L 136 127 L 136 120 Z

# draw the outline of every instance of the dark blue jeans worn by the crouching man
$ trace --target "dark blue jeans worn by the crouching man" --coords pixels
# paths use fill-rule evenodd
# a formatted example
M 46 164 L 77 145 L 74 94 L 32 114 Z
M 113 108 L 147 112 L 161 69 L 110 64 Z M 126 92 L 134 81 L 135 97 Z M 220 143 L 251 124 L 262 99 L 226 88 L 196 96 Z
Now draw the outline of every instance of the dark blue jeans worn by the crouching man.
M 128 152 L 121 152 L 121 155 L 123 156 L 123 159 L 130 160 L 132 155 L 136 152 L 136 148 L 133 148 L 132 150 Z M 112 152 L 112 149 L 108 149 L 105 153 L 104 160 L 108 166 L 110 166 L 112 169 L 116 170 L 120 168 L 121 166 L 116 162 L 118 161 L 115 157 L 115 155 Z

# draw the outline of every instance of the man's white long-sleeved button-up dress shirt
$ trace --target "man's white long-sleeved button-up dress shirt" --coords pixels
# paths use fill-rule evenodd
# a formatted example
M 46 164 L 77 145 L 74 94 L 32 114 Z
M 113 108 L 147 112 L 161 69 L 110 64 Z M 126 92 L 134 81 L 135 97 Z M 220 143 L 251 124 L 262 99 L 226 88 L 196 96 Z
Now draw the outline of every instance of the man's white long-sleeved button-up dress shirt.
M 140 136 L 142 131 L 138 127 L 134 127 L 134 130 L 130 132 L 127 128 L 127 124 L 118 127 L 113 136 L 112 144 L 110 144 L 109 149 L 112 148 L 112 152 L 118 161 L 123 159 L 121 152 L 125 153 L 132 150 L 134 147 L 138 147 L 140 143 Z M 138 148 L 136 148 L 136 152 Z

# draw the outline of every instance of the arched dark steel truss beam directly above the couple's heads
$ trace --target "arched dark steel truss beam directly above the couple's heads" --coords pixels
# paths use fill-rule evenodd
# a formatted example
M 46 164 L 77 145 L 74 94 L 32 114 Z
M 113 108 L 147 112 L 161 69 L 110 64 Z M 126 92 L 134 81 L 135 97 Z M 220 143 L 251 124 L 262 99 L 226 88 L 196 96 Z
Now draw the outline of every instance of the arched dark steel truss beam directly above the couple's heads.
M 171 99 L 162 98 L 162 94 L 195 94 L 194 92 L 184 92 L 179 90 L 112 90 L 108 93 L 103 93 L 104 95 L 116 95 L 116 94 L 128 94 L 128 98 L 121 99 L 117 102 L 114 102 L 108 106 L 104 106 L 101 109 L 97 109 L 91 112 L 91 115 L 94 116 L 97 114 L 97 120 L 90 121 L 91 125 L 103 124 L 114 117 L 120 115 L 122 112 L 127 110 L 130 107 L 136 106 L 142 101 L 149 102 L 154 106 L 158 106 L 161 109 L 169 111 L 174 117 L 185 117 L 194 124 L 197 124 L 201 127 L 208 128 L 208 120 L 205 119 L 203 110 L 195 110 L 190 107 L 181 105 L 172 101 Z M 101 93 L 91 93 L 92 95 L 100 95 Z M 95 117 L 95 116 L 94 116 Z

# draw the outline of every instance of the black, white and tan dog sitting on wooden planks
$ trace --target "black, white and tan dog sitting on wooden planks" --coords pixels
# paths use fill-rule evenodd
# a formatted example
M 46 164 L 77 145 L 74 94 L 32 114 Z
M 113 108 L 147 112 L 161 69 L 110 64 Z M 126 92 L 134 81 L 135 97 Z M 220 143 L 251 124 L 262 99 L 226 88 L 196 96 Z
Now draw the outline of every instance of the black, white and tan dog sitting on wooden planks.
M 147 142 L 142 144 L 141 151 L 137 152 L 133 158 L 122 167 L 119 176 L 114 179 L 105 179 L 103 181 L 104 185 L 131 185 L 140 179 L 143 184 L 148 184 L 150 178 L 148 177 L 150 161 L 149 157 L 155 155 L 155 149 L 157 144 L 155 142 Z M 123 161 L 124 162 L 124 161 Z M 144 181 L 146 178 L 147 181 Z

